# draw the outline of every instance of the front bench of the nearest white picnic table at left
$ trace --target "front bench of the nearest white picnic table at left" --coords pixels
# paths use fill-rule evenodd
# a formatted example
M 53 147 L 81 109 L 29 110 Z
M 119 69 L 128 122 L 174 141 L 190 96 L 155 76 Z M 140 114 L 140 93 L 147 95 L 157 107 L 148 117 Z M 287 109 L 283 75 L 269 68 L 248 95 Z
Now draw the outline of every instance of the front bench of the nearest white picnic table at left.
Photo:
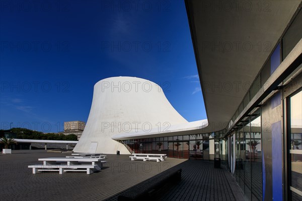
M 58 171 L 59 174 L 67 171 L 85 171 L 87 174 L 92 174 L 101 170 L 98 165 L 29 165 L 28 167 L 33 168 L 33 174 L 38 171 Z

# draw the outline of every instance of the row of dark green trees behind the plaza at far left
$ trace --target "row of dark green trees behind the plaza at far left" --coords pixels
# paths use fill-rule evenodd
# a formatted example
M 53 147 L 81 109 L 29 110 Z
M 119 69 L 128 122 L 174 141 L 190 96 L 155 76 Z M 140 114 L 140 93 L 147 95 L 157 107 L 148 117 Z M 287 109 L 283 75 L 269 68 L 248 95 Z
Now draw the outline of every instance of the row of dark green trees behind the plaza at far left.
M 61 133 L 43 133 L 36 130 L 30 130 L 27 128 L 12 128 L 9 130 L 0 130 L 0 136 L 4 136 L 4 132 L 15 132 L 17 133 L 17 139 L 30 139 L 30 140 L 67 140 L 77 141 L 77 135 L 63 135 Z

